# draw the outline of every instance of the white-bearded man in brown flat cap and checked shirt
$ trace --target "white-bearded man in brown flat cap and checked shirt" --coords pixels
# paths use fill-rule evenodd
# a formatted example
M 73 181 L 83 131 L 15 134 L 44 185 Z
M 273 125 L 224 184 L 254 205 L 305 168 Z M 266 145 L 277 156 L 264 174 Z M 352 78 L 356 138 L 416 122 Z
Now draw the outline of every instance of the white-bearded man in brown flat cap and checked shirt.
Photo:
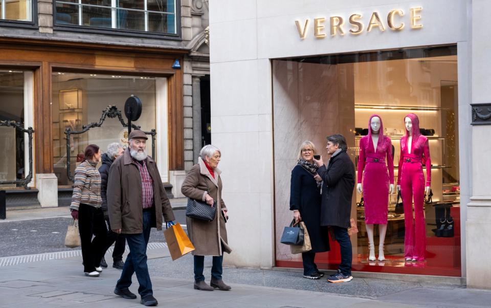
M 129 291 L 131 276 L 136 273 L 141 303 L 155 306 L 152 282 L 147 267 L 147 244 L 152 227 L 162 230 L 174 218 L 155 161 L 145 151 L 147 136 L 141 130 L 129 134 L 129 147 L 109 169 L 107 209 L 111 228 L 123 233 L 129 247 L 121 278 L 114 293 L 127 299 L 137 296 Z

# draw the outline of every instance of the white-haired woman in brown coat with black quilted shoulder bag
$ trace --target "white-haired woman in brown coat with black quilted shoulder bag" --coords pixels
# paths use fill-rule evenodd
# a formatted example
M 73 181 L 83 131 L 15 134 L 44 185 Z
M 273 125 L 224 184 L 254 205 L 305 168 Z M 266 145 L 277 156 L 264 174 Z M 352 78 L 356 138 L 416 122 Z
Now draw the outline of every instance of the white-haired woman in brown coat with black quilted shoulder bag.
M 181 189 L 185 196 L 216 208 L 215 219 L 211 222 L 186 218 L 189 238 L 195 248 L 194 289 L 202 291 L 213 291 L 215 288 L 231 290 L 221 277 L 224 252 L 230 253 L 232 250 L 228 246 L 225 228 L 227 208 L 221 199 L 221 171 L 217 168 L 220 158 L 221 152 L 217 147 L 211 144 L 204 146 L 199 152 L 198 163 L 186 175 Z M 210 285 L 203 275 L 205 256 L 213 256 Z

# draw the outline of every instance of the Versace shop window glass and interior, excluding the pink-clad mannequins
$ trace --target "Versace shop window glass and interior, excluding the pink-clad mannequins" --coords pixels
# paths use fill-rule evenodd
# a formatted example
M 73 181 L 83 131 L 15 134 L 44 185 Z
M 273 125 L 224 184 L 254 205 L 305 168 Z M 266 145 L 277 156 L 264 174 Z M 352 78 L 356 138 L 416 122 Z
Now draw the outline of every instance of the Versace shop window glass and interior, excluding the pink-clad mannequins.
M 302 267 L 301 255 L 291 254 L 279 241 L 283 227 L 293 217 L 289 180 L 302 141 L 313 141 L 326 161 L 326 136 L 344 135 L 357 169 L 360 139 L 368 134 L 370 116 L 377 114 L 384 135 L 392 142 L 396 184 L 400 139 L 406 133 L 404 118 L 414 113 L 421 135 L 429 140 L 432 164 L 432 195 L 423 204 L 426 260 L 405 260 L 405 219 L 415 214 L 395 211 L 396 193 L 390 194 L 388 204 L 381 205 L 387 209 L 385 240 L 380 238 L 380 225 L 373 227 L 375 255 L 382 242 L 386 260 L 368 260 L 363 193 L 358 193 L 355 185 L 351 217 L 360 231 L 351 235 L 353 269 L 460 276 L 457 90 L 456 46 L 273 60 L 277 266 Z M 424 166 L 423 172 L 426 179 Z M 332 239 L 330 244 L 330 252 L 316 256 L 320 268 L 337 269 L 339 245 Z

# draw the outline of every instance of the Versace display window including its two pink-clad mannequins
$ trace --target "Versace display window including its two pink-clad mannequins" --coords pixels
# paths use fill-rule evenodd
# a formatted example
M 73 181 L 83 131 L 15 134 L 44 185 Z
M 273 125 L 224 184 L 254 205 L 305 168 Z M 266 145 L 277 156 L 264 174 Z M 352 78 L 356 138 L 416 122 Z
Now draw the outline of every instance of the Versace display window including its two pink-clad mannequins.
M 272 63 L 277 266 L 302 267 L 301 255 L 278 238 L 293 218 L 289 187 L 298 147 L 304 140 L 314 142 L 326 162 L 326 136 L 342 134 L 356 170 L 351 218 L 359 232 L 350 237 L 353 269 L 460 276 L 456 46 Z M 373 118 L 378 139 L 372 135 Z M 415 139 L 409 151 L 407 119 Z M 403 192 L 399 206 L 397 184 Z M 316 262 L 337 269 L 339 245 L 332 238 L 330 251 L 318 253 Z

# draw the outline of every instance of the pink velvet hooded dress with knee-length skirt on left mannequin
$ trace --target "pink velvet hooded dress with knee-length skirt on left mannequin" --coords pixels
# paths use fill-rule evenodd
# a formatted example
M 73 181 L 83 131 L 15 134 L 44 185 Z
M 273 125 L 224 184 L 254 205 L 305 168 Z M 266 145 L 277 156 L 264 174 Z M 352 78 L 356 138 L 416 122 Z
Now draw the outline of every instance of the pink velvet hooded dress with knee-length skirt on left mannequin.
M 380 119 L 377 145 L 374 145 L 372 141 L 370 124 L 373 117 Z M 372 115 L 368 120 L 368 135 L 360 139 L 358 183 L 362 183 L 363 178 L 366 224 L 387 224 L 389 183 L 394 184 L 394 159 L 392 157 L 392 142 L 389 137 L 384 136 L 383 131 L 382 118 L 379 115 Z

